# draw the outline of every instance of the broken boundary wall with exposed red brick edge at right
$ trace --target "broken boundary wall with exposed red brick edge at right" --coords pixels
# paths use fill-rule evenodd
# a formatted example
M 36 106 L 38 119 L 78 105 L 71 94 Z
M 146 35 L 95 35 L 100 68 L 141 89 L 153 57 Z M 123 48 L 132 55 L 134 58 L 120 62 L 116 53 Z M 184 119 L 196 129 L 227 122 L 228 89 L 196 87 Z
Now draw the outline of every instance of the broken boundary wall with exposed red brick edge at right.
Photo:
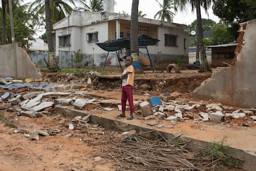
M 237 107 L 256 107 L 256 19 L 241 23 L 233 64 L 217 68 L 191 94 Z

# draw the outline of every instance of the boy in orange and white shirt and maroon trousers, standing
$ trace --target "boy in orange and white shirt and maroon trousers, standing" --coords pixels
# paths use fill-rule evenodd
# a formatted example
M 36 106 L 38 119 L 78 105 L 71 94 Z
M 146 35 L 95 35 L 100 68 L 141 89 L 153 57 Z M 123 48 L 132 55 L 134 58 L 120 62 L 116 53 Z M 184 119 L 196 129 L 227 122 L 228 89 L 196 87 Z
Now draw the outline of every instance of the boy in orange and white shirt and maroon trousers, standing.
M 117 118 L 126 117 L 126 101 L 128 99 L 130 106 L 130 115 L 127 120 L 134 119 L 134 98 L 132 95 L 133 86 L 134 86 L 134 67 L 132 66 L 132 57 L 127 56 L 125 58 L 126 67 L 124 68 L 124 72 L 120 79 L 122 80 L 122 96 L 121 96 L 121 104 L 122 104 L 122 114 L 117 115 Z

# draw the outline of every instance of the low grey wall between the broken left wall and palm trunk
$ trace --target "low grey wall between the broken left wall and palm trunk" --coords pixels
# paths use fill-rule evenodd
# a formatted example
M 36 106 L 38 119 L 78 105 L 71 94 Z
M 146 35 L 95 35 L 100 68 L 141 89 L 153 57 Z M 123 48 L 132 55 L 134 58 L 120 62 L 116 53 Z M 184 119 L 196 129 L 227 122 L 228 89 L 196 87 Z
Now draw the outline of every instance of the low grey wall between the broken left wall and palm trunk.
M 36 63 L 37 67 L 48 67 L 49 55 L 48 51 L 28 51 L 29 56 Z

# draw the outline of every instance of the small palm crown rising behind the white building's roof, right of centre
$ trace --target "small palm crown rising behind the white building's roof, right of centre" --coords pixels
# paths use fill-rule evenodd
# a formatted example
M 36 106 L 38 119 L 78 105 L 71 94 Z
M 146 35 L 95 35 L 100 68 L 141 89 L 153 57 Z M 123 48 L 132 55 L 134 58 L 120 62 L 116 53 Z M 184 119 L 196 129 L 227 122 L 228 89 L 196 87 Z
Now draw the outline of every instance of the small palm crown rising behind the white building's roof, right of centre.
M 160 10 L 156 12 L 154 19 L 158 16 L 158 20 L 173 22 L 174 12 L 171 11 L 171 9 L 174 9 L 173 0 L 163 0 L 163 4 L 157 0 L 156 2 L 160 5 Z

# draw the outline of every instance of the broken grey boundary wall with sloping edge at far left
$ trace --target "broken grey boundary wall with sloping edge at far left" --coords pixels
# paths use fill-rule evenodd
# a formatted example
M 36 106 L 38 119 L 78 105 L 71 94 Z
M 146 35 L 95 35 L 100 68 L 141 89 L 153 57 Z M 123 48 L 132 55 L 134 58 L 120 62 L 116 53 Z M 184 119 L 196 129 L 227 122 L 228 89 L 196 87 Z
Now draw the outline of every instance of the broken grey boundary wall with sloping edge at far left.
M 0 77 L 15 77 L 15 57 L 12 51 L 12 44 L 0 46 Z M 41 78 L 40 71 L 30 59 L 27 52 L 15 44 L 17 55 L 17 78 L 24 80 L 26 78 Z

